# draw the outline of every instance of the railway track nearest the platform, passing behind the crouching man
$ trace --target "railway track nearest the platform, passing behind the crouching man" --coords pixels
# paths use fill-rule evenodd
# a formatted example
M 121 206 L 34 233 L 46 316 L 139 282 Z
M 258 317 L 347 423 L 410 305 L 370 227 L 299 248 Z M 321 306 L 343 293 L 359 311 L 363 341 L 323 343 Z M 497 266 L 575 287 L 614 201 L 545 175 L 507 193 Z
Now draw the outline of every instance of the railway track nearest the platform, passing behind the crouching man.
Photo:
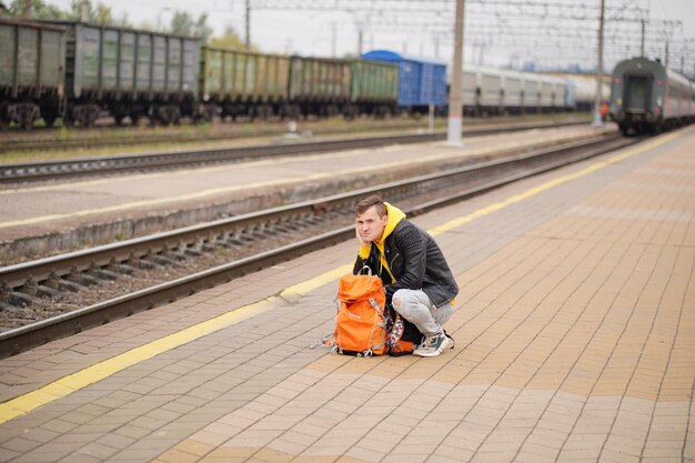
M 391 182 L 344 194 L 239 215 L 150 236 L 40 259 L 0 269 L 0 309 L 40 303 L 88 291 L 100 281 L 139 269 L 175 265 L 220 248 L 238 258 L 150 288 L 121 294 L 58 316 L 0 333 L 0 358 L 71 335 L 118 318 L 185 298 L 234 278 L 275 265 L 354 235 L 353 207 L 366 194 L 382 194 L 416 215 L 481 192 L 603 154 L 642 139 L 602 137 L 553 149 Z M 344 223 L 350 223 L 345 227 Z M 282 240 L 273 240 L 283 236 Z M 275 248 L 268 250 L 268 243 Z

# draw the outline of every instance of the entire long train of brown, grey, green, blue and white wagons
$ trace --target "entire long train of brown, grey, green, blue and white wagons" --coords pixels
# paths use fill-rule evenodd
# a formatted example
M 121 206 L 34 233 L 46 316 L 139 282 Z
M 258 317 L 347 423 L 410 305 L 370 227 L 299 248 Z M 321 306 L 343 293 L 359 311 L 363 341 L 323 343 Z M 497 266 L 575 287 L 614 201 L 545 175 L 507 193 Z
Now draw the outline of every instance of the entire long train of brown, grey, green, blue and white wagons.
M 77 21 L 0 19 L 0 129 L 231 118 L 446 113 L 446 63 L 390 50 L 359 59 L 252 53 L 198 38 Z M 585 85 L 584 85 L 585 87 Z M 466 115 L 586 110 L 593 91 L 558 77 L 464 66 Z

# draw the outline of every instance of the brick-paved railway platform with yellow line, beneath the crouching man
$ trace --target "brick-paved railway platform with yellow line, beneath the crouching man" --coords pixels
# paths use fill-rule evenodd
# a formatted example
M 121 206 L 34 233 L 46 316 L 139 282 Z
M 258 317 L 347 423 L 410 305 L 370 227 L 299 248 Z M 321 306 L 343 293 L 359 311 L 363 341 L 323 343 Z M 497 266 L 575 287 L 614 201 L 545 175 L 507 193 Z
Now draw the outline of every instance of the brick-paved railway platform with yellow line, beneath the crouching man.
M 345 242 L 0 361 L 2 462 L 695 462 L 695 129 L 413 218 L 437 358 L 311 349 Z M 397 204 L 396 204 L 397 205 Z

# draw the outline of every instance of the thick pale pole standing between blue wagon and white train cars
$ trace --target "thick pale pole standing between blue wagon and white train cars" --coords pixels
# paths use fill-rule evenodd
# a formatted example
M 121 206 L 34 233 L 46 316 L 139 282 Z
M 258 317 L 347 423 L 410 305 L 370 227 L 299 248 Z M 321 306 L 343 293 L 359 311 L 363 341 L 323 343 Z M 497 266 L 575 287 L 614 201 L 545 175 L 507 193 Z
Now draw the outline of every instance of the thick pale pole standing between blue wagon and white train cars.
M 454 22 L 454 58 L 451 70 L 451 90 L 449 92 L 449 130 L 446 132 L 446 144 L 452 147 L 463 147 L 461 131 L 463 105 L 462 81 L 463 81 L 463 12 L 464 0 L 456 0 L 456 20 Z

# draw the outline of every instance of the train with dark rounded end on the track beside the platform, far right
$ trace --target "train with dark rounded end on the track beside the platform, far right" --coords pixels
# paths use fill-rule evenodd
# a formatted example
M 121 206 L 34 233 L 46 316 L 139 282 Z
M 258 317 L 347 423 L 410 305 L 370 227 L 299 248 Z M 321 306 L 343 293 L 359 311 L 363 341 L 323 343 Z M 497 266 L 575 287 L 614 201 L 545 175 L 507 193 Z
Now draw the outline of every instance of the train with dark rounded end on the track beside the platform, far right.
M 695 119 L 695 84 L 659 61 L 621 61 L 611 80 L 610 117 L 624 135 L 689 123 Z

